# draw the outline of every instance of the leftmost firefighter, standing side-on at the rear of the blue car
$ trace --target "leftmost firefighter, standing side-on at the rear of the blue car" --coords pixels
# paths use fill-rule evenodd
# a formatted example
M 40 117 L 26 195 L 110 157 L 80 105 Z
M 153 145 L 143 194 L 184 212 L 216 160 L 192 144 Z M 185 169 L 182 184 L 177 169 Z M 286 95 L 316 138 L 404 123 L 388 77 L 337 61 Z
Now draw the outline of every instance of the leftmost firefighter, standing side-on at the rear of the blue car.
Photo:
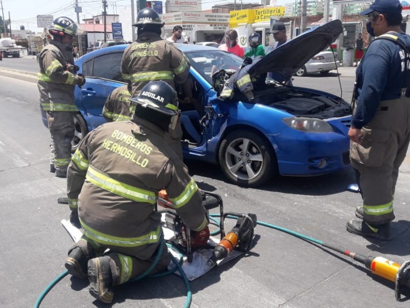
M 77 25 L 67 17 L 58 17 L 49 27 L 53 40 L 38 56 L 38 90 L 40 107 L 47 112 L 51 134 L 50 171 L 66 178 L 74 137 L 73 113 L 78 111 L 74 100 L 75 85 L 82 86 L 85 78 L 75 73 L 72 53 Z

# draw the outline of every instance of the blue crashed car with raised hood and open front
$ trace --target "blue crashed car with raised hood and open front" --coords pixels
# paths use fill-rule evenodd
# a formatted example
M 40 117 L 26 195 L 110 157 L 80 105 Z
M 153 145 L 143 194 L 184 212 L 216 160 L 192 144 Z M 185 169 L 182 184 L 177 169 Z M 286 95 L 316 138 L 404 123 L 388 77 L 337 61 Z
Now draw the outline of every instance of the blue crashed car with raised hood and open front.
M 339 21 L 303 33 L 263 57 L 251 68 L 253 76 L 274 71 L 289 79 L 335 40 L 342 31 L 341 24 L 335 22 Z M 225 80 L 229 80 L 228 72 L 238 69 L 242 59 L 212 47 L 176 45 L 191 62 L 192 92 L 197 99 L 195 106 L 180 105 L 182 114 L 189 115 L 201 136 L 201 141 L 195 142 L 183 129 L 185 159 L 219 164 L 230 182 L 249 187 L 261 185 L 275 174 L 316 176 L 350 165 L 347 131 L 351 108 L 347 102 L 330 93 L 273 80 L 255 87 L 253 100 L 235 91 L 232 99 L 223 101 L 219 98 L 221 85 L 211 75 L 223 69 Z M 80 112 L 75 115 L 73 148 L 88 131 L 105 122 L 102 109 L 106 98 L 125 84 L 120 62 L 127 46 L 102 48 L 76 60 L 86 84 L 75 89 Z M 181 101 L 182 88 L 176 87 Z M 43 120 L 47 125 L 45 117 Z

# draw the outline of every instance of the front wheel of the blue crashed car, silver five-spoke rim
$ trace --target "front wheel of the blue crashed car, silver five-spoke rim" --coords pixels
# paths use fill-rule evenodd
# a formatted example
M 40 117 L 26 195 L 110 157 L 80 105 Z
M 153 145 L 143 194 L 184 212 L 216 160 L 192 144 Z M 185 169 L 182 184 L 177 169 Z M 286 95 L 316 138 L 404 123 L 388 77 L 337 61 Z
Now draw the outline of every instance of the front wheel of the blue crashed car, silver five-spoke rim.
M 242 150 L 244 146 L 246 150 Z M 218 158 L 224 175 L 239 186 L 262 185 L 277 172 L 276 156 L 271 145 L 252 131 L 229 133 L 221 142 Z

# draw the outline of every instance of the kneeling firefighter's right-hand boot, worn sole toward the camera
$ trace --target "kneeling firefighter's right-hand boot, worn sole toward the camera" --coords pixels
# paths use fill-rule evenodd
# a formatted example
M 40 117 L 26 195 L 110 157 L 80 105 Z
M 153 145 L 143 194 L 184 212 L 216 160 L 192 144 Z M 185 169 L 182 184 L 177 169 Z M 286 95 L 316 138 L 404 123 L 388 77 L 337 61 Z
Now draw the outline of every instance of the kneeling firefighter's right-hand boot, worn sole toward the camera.
M 111 303 L 114 293 L 114 282 L 111 272 L 110 257 L 104 256 L 88 261 L 88 280 L 90 281 L 90 294 L 103 303 Z

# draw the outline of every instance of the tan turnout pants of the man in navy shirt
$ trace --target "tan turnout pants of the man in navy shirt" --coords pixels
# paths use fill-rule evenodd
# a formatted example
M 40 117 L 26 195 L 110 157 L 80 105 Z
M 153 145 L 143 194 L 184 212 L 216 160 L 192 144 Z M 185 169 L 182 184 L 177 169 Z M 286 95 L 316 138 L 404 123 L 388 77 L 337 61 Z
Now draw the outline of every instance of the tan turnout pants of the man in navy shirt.
M 363 220 L 380 225 L 395 216 L 393 198 L 410 140 L 410 98 L 380 102 L 373 120 L 361 129 L 361 143 L 350 143 L 350 159 L 360 174 Z

